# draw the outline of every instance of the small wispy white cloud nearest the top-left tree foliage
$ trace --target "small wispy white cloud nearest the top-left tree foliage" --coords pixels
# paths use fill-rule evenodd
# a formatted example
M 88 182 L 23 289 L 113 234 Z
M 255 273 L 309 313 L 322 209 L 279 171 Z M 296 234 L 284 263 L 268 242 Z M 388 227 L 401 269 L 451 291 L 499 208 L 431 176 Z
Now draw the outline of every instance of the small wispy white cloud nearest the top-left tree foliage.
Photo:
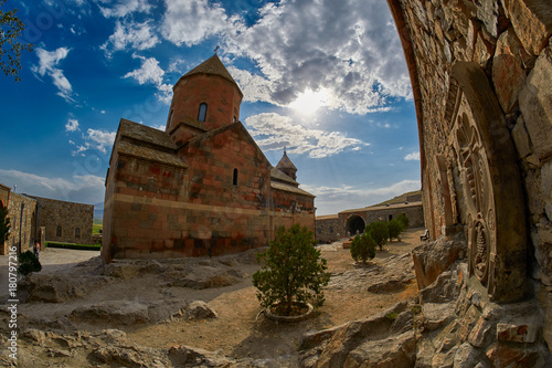
M 56 66 L 67 56 L 70 49 L 60 48 L 55 51 L 46 51 L 36 48 L 36 55 L 39 56 L 39 65 L 31 67 L 33 73 L 40 76 L 50 75 L 54 85 L 57 87 L 57 95 L 63 97 L 66 102 L 74 102 L 71 97 L 73 88 L 68 80 L 63 75 L 63 71 Z

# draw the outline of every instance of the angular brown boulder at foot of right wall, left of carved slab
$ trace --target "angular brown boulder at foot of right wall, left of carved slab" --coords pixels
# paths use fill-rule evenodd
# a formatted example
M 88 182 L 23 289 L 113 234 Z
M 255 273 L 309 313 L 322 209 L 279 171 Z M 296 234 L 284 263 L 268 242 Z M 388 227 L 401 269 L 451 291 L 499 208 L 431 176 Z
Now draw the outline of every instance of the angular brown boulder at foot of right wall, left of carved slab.
M 467 254 L 467 244 L 463 234 L 453 239 L 440 238 L 412 251 L 418 288 L 432 284 L 450 264 Z

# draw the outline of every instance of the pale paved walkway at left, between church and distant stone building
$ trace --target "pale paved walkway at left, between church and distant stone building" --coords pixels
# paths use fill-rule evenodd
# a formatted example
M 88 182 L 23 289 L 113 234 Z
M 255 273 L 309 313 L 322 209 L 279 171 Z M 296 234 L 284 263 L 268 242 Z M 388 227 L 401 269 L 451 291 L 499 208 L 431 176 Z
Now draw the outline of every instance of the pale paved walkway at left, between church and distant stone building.
M 68 269 L 75 264 L 99 255 L 99 251 L 77 251 L 72 249 L 47 248 L 40 253 L 42 274 Z M 0 255 L 0 303 L 8 295 L 8 264 L 9 256 Z

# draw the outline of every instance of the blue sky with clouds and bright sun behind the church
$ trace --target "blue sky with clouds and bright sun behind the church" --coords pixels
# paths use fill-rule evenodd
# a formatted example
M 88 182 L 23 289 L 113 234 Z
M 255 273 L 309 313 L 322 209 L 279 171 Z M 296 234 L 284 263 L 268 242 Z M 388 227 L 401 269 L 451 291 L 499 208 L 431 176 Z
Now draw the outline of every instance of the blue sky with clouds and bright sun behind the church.
M 317 214 L 417 190 L 410 78 L 383 0 L 8 0 L 21 82 L 0 76 L 0 182 L 97 204 L 120 118 L 162 128 L 172 85 L 213 54 L 275 166 L 284 147 Z

